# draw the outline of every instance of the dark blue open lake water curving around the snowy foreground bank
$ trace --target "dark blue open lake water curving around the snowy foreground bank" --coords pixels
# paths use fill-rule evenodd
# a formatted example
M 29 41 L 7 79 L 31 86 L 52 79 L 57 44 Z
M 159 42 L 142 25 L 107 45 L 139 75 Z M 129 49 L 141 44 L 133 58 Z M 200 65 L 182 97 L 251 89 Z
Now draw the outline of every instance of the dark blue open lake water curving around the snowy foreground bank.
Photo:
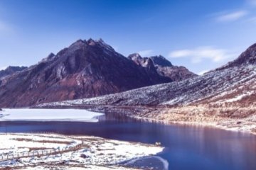
M 169 169 L 256 169 L 254 135 L 108 117 L 98 123 L 0 122 L 0 132 L 58 132 L 150 144 L 161 142 L 166 149 L 158 156 L 169 162 Z

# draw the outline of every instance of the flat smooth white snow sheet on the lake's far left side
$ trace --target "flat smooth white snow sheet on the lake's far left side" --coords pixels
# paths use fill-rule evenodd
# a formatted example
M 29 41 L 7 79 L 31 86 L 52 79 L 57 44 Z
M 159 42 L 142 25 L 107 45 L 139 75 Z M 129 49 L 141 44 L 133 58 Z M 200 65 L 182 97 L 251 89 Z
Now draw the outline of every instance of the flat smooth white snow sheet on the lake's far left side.
M 2 114 L 2 115 L 1 115 Z M 97 122 L 97 116 L 104 115 L 80 109 L 4 109 L 0 121 L 82 121 Z

